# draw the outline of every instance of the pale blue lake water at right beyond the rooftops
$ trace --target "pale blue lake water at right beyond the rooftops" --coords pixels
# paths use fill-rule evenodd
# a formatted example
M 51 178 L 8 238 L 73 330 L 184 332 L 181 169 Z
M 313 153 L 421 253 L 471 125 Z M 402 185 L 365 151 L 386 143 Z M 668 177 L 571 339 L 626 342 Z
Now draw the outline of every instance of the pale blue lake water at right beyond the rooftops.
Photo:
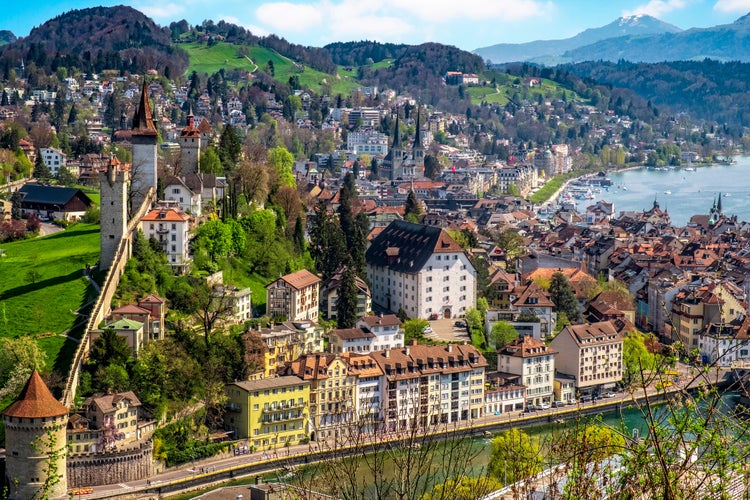
M 724 213 L 750 221 L 750 156 L 735 158 L 733 165 L 697 167 L 694 172 L 684 168 L 669 170 L 637 169 L 610 173 L 609 191 L 595 193 L 595 200 L 577 200 L 579 211 L 596 200 L 614 202 L 620 211 L 648 210 L 654 198 L 662 209 L 669 211 L 672 224 L 684 226 L 695 214 L 708 214 L 721 193 Z M 667 193 L 669 192 L 669 193 Z

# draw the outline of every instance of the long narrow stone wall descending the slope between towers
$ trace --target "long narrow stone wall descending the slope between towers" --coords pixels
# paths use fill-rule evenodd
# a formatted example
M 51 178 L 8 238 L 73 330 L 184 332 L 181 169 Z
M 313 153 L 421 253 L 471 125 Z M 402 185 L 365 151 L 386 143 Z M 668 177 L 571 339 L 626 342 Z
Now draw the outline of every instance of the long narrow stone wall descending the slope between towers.
M 109 307 L 112 301 L 112 297 L 117 290 L 117 285 L 120 283 L 120 276 L 123 273 L 125 264 L 130 258 L 130 243 L 133 238 L 133 233 L 138 229 L 138 224 L 141 218 L 146 215 L 151 209 L 154 200 L 156 199 L 156 192 L 153 188 L 150 188 L 146 198 L 139 207 L 138 211 L 128 222 L 125 236 L 120 240 L 117 245 L 117 251 L 112 259 L 112 265 L 107 271 L 107 277 L 104 280 L 104 286 L 102 286 L 99 296 L 94 303 L 94 307 L 89 315 L 89 320 L 86 323 L 86 330 L 83 332 L 81 342 L 78 344 L 76 353 L 73 356 L 73 362 L 70 365 L 70 372 L 68 373 L 68 380 L 65 383 L 65 390 L 63 391 L 62 404 L 68 408 L 73 406 L 73 399 L 75 398 L 76 389 L 78 388 L 78 376 L 81 373 L 81 366 L 89 351 L 89 341 L 91 338 L 91 331 L 95 330 L 99 323 L 104 319 L 105 308 Z M 107 313 L 109 311 L 106 311 Z

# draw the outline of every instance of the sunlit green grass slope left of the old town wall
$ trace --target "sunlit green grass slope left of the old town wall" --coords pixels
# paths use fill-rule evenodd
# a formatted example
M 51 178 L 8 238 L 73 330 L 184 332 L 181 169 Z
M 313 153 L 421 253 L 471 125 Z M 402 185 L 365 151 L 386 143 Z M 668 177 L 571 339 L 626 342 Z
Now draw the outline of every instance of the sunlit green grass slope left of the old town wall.
M 76 310 L 96 298 L 82 269 L 99 260 L 99 226 L 74 224 L 0 249 L 0 336 L 34 336 L 47 353 L 47 369 L 67 373 L 77 344 L 65 334 L 77 325 L 71 335 L 80 336 L 84 318 Z

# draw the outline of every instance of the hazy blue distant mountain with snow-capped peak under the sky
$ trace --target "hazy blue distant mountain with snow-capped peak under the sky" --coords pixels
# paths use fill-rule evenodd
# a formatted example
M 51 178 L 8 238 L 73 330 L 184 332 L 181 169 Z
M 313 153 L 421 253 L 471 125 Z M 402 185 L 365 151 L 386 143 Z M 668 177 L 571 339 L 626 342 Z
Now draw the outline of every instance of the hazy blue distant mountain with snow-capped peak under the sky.
M 563 40 L 538 40 L 529 43 L 500 43 L 482 47 L 474 51 L 485 60 L 493 63 L 504 62 L 540 62 L 557 64 L 568 51 L 595 44 L 602 40 L 625 37 L 642 37 L 644 35 L 679 33 L 677 26 L 647 16 L 627 16 L 600 28 L 590 28 Z

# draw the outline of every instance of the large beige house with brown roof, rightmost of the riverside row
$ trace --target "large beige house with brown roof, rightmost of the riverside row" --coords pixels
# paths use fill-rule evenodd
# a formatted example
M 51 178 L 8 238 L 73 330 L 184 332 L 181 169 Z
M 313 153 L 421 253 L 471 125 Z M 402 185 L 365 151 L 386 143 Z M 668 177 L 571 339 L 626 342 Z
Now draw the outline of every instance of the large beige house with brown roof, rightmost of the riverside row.
M 579 394 L 599 394 L 622 380 L 622 334 L 610 321 L 567 325 L 552 339 L 557 370 L 575 378 Z

